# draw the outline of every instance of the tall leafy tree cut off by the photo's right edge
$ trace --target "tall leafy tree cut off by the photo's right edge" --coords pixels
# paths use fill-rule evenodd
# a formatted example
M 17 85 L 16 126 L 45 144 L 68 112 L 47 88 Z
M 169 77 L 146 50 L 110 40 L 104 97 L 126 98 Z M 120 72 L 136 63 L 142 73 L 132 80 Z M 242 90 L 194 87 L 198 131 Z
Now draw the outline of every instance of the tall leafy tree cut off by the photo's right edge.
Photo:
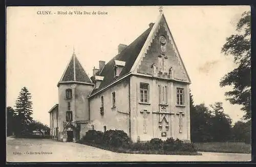
M 237 33 L 226 38 L 222 53 L 234 58 L 237 68 L 227 73 L 220 81 L 220 86 L 232 86 L 232 91 L 225 92 L 231 104 L 242 105 L 244 120 L 251 118 L 251 16 L 244 12 L 237 23 Z

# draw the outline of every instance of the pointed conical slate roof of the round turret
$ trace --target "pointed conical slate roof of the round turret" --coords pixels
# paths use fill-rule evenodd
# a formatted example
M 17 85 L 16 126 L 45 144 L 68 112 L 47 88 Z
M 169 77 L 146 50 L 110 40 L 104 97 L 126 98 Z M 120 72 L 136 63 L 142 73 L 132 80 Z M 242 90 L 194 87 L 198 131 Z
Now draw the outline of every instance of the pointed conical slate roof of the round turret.
M 74 70 L 75 69 L 75 70 Z M 81 63 L 77 59 L 76 55 L 73 54 L 70 63 L 65 70 L 60 82 L 83 82 L 92 83 L 86 71 L 83 69 Z

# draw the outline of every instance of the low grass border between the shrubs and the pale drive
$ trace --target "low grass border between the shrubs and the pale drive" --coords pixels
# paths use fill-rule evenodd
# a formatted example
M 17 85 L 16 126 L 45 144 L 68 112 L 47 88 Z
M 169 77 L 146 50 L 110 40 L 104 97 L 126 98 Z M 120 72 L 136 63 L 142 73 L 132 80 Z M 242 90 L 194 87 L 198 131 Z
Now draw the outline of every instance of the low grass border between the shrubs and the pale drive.
M 106 147 L 102 145 L 96 145 L 96 144 L 91 144 L 89 142 L 78 142 L 79 144 L 82 145 L 88 145 L 92 147 L 96 147 L 102 150 L 108 150 L 112 152 L 117 152 L 117 153 L 126 153 L 126 154 L 161 154 L 161 155 L 202 155 L 201 153 L 198 152 L 181 152 L 181 151 L 176 151 L 176 152 L 163 152 L 160 150 L 140 150 L 140 151 L 133 151 L 130 149 L 126 148 L 113 148 L 113 147 Z

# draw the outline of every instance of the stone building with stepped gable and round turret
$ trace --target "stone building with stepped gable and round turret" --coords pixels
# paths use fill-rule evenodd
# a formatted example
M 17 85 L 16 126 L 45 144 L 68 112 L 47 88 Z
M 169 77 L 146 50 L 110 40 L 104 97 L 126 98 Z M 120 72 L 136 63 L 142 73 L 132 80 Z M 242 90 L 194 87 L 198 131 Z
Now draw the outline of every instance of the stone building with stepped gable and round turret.
M 75 53 L 58 82 L 51 135 L 76 141 L 94 129 L 123 130 L 133 141 L 190 141 L 189 84 L 164 14 L 131 44 L 99 61 L 89 78 Z

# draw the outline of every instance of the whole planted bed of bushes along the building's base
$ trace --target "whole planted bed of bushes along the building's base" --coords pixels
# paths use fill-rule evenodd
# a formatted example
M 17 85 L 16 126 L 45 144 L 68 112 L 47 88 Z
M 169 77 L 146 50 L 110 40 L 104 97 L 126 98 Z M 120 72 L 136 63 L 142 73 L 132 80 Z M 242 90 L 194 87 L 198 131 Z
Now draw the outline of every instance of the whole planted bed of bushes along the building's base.
M 134 143 L 121 130 L 108 130 L 104 133 L 89 130 L 78 143 L 120 153 L 201 155 L 192 143 L 173 138 L 167 138 L 165 141 L 153 138 L 150 141 Z

